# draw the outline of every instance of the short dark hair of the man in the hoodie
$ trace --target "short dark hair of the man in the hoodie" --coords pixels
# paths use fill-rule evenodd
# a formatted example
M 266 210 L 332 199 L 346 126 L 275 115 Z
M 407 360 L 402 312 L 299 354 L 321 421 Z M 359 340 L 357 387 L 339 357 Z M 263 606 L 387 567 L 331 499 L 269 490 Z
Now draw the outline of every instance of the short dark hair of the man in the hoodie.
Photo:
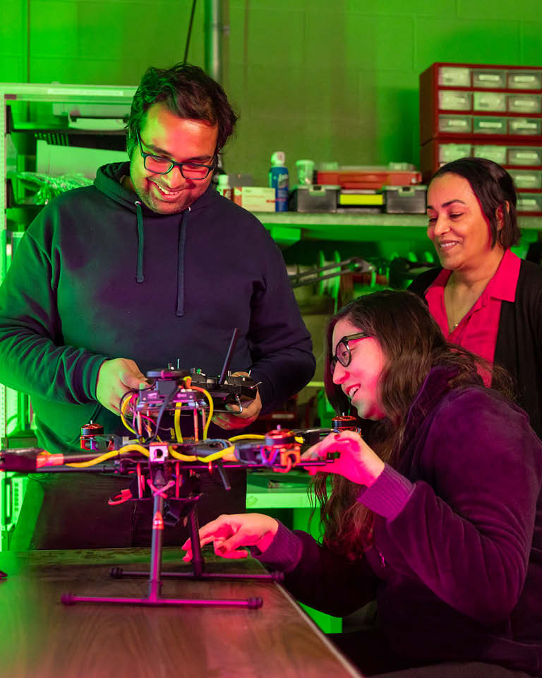
M 205 120 L 218 126 L 216 153 L 234 131 L 237 115 L 222 87 L 198 66 L 175 64 L 169 69 L 150 66 L 133 96 L 126 149 L 132 157 L 147 110 L 164 102 L 180 118 Z

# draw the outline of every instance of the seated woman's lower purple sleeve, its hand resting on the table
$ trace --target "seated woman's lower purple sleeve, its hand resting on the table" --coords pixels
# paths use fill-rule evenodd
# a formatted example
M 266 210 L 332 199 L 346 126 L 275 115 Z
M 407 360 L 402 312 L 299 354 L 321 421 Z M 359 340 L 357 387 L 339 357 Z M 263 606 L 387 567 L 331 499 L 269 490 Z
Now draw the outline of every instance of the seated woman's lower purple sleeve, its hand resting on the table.
M 285 573 L 284 585 L 298 600 L 327 614 L 342 617 L 375 597 L 378 580 L 364 557 L 349 560 L 282 523 L 265 552 L 251 552 L 268 569 Z

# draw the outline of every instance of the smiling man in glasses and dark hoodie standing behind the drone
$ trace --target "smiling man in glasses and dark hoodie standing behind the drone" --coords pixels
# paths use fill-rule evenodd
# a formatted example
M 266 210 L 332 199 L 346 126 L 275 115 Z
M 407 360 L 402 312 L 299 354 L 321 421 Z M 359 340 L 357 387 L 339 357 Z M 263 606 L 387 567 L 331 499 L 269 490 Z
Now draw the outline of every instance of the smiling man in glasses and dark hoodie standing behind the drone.
M 47 451 L 69 454 L 91 420 L 123 431 L 119 402 L 151 369 L 220 374 L 234 328 L 231 370 L 250 370 L 258 393 L 242 412 L 215 415 L 208 437 L 246 427 L 313 376 L 282 254 L 211 185 L 235 123 L 201 69 L 148 69 L 128 121 L 130 162 L 100 167 L 94 186 L 68 191 L 30 225 L 0 288 L 0 381 L 30 394 Z M 201 521 L 244 510 L 246 474 L 229 480 L 229 492 L 203 480 Z M 145 506 L 107 507 L 125 487 L 118 477 L 30 480 L 13 547 L 146 545 Z

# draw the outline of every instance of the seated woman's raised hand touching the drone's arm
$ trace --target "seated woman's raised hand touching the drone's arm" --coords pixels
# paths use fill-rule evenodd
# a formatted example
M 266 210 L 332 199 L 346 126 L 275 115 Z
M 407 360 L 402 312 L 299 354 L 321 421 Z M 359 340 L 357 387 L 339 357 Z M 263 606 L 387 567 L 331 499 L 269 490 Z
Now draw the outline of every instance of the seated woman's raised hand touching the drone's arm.
M 338 453 L 337 459 L 328 461 L 325 466 L 309 468 L 315 473 L 338 473 L 360 485 L 371 487 L 384 470 L 384 462 L 354 431 L 330 433 L 319 443 L 308 448 L 302 459 L 326 459 L 330 453 Z

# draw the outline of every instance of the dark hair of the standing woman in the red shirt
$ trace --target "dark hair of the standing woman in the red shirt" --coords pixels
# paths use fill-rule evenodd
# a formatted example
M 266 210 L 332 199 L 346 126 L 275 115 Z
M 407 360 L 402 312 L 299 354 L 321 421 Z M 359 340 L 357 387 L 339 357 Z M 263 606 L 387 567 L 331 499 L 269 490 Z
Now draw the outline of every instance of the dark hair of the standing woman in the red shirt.
M 433 174 L 431 181 L 442 177 L 442 174 L 457 174 L 471 184 L 488 220 L 492 247 L 498 242 L 504 249 L 508 249 L 519 242 L 521 232 L 517 225 L 516 189 L 506 169 L 483 157 L 462 157 L 442 165 Z

